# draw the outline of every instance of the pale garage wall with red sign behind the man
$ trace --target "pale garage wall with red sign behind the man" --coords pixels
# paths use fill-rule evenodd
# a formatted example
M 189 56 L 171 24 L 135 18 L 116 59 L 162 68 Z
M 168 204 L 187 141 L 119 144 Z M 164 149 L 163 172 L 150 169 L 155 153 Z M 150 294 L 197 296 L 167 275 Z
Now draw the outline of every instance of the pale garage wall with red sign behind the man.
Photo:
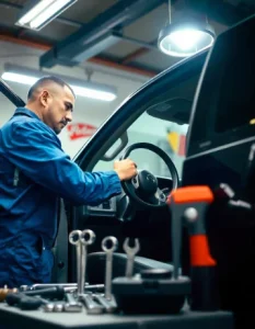
M 42 50 L 32 49 L 25 46 L 14 45 L 11 43 L 0 42 L 0 73 L 3 72 L 4 63 L 16 64 L 30 68 L 38 69 L 38 58 L 43 54 Z M 55 67 L 47 72 L 58 72 L 65 76 L 86 79 L 84 68 L 65 68 Z M 147 78 L 143 78 L 146 81 Z M 121 77 L 120 73 L 109 75 L 104 71 L 94 71 L 92 81 L 98 83 L 111 84 L 117 88 L 117 99 L 113 102 L 103 102 L 78 97 L 73 112 L 73 125 L 69 132 L 65 129 L 60 135 L 62 147 L 71 157 L 73 157 L 88 137 L 93 133 L 115 109 L 132 92 L 142 86 L 142 79 L 130 79 Z M 8 84 L 25 101 L 30 89 L 28 86 L 8 82 Z M 0 125 L 14 112 L 14 107 L 0 98 Z M 92 127 L 90 127 L 90 126 Z

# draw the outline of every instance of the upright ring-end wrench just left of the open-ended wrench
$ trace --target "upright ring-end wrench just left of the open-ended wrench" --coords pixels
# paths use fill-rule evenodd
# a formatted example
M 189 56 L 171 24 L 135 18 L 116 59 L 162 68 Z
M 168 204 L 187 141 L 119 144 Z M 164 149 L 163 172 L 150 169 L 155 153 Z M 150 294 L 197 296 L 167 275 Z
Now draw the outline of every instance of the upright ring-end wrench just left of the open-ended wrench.
M 106 253 L 105 265 L 105 292 L 106 299 L 112 299 L 112 276 L 113 276 L 113 253 L 118 248 L 118 240 L 115 237 L 105 237 L 102 241 L 102 249 Z

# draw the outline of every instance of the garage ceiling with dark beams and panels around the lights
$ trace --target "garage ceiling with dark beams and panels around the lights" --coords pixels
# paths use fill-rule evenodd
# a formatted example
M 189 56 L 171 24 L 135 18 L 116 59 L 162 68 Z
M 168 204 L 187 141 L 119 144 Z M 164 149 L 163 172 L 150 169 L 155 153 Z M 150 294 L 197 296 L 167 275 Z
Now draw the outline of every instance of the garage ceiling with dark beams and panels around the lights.
M 26 2 L 0 0 L 0 41 L 44 49 L 44 67 L 89 60 L 153 76 L 179 60 L 157 47 L 159 32 L 169 21 L 166 0 L 78 0 L 38 32 L 15 25 Z M 184 2 L 194 13 L 207 14 L 217 34 L 255 12 L 253 0 L 172 0 L 173 14 L 182 12 Z M 106 34 L 114 43 L 101 46 Z

